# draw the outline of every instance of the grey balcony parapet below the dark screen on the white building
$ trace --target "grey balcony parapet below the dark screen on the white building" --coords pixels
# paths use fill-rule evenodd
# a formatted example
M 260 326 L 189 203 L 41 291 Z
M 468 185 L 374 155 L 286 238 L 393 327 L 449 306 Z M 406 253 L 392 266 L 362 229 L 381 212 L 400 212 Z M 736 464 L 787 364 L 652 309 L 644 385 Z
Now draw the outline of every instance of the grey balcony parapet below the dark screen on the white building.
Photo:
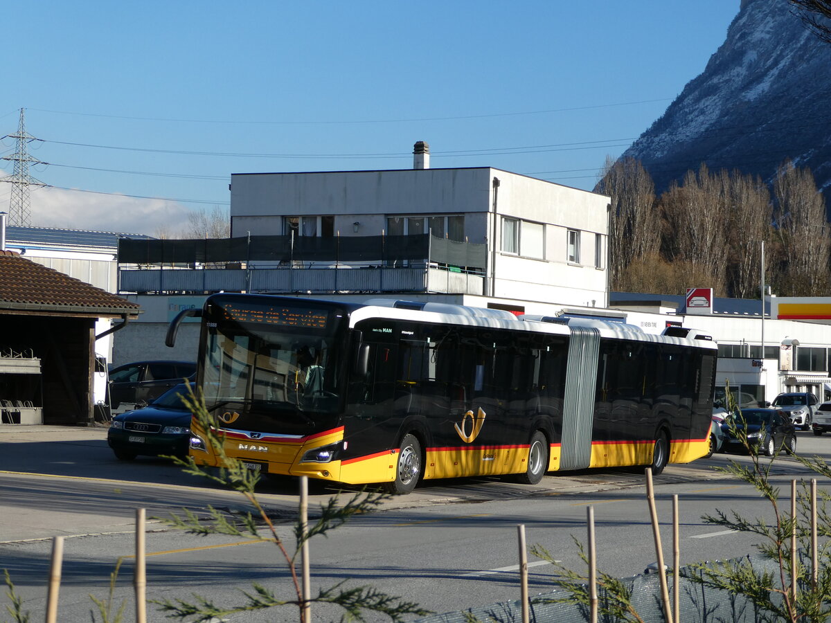
M 440 292 L 484 294 L 484 275 L 453 267 L 120 268 L 120 294 Z

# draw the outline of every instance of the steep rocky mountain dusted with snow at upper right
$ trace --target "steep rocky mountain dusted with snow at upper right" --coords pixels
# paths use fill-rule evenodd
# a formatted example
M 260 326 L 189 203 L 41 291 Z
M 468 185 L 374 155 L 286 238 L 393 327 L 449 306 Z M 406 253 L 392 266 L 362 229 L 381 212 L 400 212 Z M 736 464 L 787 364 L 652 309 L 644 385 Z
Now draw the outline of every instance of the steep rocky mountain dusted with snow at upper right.
M 702 162 L 770 182 L 789 158 L 831 194 L 831 44 L 794 10 L 786 0 L 742 0 L 703 73 L 624 152 L 657 192 Z

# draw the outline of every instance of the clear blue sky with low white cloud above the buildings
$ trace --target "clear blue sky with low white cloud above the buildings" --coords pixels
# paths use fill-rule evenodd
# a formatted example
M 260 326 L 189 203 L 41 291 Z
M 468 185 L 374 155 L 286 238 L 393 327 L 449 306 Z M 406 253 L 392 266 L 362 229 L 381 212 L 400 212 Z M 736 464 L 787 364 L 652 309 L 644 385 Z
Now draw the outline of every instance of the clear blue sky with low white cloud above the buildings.
M 30 173 L 54 187 L 32 190 L 32 225 L 176 235 L 227 208 L 232 173 L 407 169 L 416 140 L 434 168 L 592 189 L 704 70 L 739 0 L 7 9 L 0 135 L 25 108 L 50 163 Z

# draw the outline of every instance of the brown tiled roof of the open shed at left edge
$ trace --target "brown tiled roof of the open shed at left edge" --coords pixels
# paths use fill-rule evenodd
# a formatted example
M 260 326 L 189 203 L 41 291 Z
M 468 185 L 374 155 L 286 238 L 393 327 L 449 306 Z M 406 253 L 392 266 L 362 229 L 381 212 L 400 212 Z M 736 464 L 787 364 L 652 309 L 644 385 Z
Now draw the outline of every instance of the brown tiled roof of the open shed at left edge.
M 0 311 L 135 316 L 139 309 L 138 303 L 22 258 L 19 253 L 0 251 Z

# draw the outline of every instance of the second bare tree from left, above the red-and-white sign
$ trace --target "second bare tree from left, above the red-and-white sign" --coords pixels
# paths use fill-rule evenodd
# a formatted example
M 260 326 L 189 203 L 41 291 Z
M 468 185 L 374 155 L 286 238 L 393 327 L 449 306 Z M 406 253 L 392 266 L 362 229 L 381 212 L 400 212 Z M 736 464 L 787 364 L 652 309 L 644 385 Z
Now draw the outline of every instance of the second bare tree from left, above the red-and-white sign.
M 711 174 L 706 164 L 701 164 L 698 174 L 687 171 L 683 184 L 673 183 L 661 195 L 661 213 L 664 257 L 696 267 L 715 294 L 725 296 L 728 201 L 724 177 Z

